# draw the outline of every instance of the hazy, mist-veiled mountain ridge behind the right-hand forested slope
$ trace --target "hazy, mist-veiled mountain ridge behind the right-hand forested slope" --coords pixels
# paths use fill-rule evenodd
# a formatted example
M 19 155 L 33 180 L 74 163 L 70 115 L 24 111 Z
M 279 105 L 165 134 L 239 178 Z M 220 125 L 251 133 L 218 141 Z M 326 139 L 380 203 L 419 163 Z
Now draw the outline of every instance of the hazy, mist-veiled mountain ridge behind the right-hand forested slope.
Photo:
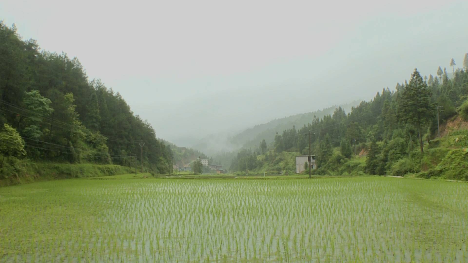
M 312 122 L 314 116 L 322 118 L 325 115 L 333 114 L 333 111 L 341 107 L 346 112 L 350 112 L 352 107 L 358 106 L 360 101 L 353 101 L 344 105 L 335 105 L 323 110 L 316 110 L 308 113 L 301 113 L 289 117 L 271 120 L 264 124 L 258 124 L 254 127 L 245 129 L 234 136 L 226 134 L 211 134 L 192 146 L 209 156 L 215 156 L 219 153 L 234 152 L 240 148 L 249 148 L 257 146 L 262 139 L 265 139 L 267 144 L 271 143 L 275 138 L 275 134 L 283 132 L 286 129 L 291 129 L 293 125 L 296 128 L 302 127 L 304 124 Z

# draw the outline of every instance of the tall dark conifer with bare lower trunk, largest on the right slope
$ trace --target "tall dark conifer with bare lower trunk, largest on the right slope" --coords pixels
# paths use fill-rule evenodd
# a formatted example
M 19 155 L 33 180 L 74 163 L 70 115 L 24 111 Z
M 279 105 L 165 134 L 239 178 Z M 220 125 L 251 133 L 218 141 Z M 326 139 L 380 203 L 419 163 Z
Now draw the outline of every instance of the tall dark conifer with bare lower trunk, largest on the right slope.
M 434 115 L 434 106 L 431 103 L 431 91 L 427 88 L 416 68 L 411 75 L 409 85 L 405 86 L 403 91 L 400 109 L 402 120 L 417 128 L 421 153 L 424 153 L 421 129 Z

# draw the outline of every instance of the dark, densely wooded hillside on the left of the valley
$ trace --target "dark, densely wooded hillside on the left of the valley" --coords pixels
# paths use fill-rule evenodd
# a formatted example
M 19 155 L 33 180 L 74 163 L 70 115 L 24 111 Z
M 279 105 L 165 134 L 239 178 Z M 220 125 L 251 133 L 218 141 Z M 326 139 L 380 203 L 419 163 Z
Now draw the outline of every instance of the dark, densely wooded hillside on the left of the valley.
M 3 22 L 0 141 L 1 167 L 12 169 L 21 159 L 134 166 L 140 142 L 146 170 L 168 172 L 172 159 L 153 127 L 118 92 L 88 80 L 77 58 L 41 51 Z

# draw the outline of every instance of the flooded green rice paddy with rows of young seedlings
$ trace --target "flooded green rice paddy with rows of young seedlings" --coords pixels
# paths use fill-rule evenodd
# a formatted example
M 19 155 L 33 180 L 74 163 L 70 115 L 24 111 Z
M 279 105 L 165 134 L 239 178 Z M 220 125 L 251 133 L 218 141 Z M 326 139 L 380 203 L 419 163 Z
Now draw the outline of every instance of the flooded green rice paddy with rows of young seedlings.
M 468 183 L 69 179 L 0 188 L 0 262 L 468 262 Z

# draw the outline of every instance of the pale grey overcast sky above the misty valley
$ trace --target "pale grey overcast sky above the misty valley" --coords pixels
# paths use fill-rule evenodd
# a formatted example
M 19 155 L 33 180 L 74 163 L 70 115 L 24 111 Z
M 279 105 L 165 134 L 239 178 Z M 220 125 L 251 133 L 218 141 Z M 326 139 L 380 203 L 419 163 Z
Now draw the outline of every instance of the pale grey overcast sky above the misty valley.
M 462 66 L 466 0 L 381 2 L 2 0 L 0 19 L 190 146 Z

